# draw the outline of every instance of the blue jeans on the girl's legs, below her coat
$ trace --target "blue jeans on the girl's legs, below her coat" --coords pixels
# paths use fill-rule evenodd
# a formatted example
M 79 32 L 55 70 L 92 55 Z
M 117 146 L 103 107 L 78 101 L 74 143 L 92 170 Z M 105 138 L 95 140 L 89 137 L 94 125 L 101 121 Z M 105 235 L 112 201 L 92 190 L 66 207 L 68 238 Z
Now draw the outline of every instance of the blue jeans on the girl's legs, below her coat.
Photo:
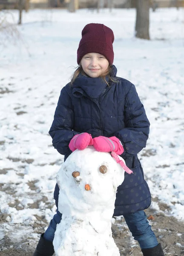
M 49 227 L 44 234 L 44 239 L 53 241 L 56 225 L 60 223 L 62 214 L 58 211 L 50 221 Z M 158 245 L 154 232 L 149 225 L 145 212 L 139 211 L 124 215 L 126 224 L 135 240 L 138 241 L 141 249 L 148 249 Z

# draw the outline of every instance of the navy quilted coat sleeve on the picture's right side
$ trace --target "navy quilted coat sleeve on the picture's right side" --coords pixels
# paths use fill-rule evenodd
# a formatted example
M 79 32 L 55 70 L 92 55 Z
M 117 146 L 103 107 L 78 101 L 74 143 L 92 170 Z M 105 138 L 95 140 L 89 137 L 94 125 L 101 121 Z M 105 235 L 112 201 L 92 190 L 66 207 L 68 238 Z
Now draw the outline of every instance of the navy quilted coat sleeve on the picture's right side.
M 132 157 L 146 147 L 150 131 L 150 122 L 133 84 L 125 96 L 124 122 L 125 128 L 115 133 L 115 136 L 124 146 L 122 155 Z

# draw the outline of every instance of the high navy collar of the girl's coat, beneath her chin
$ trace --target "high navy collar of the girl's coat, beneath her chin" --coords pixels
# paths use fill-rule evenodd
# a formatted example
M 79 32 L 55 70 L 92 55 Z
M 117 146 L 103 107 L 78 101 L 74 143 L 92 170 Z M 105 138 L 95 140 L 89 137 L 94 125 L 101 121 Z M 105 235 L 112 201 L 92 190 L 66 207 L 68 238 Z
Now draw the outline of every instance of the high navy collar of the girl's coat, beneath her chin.
M 116 76 L 117 69 L 113 65 L 111 76 Z M 108 81 L 108 78 L 106 79 Z M 106 91 L 107 84 L 101 78 L 91 78 L 88 76 L 79 76 L 75 79 L 72 93 L 75 97 L 88 96 L 92 99 L 97 99 Z

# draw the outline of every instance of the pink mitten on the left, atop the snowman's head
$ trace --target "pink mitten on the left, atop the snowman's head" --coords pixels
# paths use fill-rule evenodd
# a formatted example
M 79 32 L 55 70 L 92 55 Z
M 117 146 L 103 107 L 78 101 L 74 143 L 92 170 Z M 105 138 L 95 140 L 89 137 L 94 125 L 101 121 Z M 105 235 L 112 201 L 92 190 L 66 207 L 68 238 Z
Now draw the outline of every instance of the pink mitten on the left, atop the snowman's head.
M 72 140 L 70 140 L 69 148 L 73 152 L 75 149 L 83 150 L 87 148 L 88 145 L 93 145 L 92 136 L 91 134 L 83 132 L 75 135 Z

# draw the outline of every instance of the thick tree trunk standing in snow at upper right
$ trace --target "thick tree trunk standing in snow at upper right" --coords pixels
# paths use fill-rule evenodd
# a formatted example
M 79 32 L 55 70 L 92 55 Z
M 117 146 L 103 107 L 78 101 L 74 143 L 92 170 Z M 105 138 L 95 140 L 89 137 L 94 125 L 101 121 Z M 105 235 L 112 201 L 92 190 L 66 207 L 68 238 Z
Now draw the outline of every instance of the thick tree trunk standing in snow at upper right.
M 137 16 L 135 36 L 137 38 L 150 40 L 150 0 L 137 0 L 136 2 Z

